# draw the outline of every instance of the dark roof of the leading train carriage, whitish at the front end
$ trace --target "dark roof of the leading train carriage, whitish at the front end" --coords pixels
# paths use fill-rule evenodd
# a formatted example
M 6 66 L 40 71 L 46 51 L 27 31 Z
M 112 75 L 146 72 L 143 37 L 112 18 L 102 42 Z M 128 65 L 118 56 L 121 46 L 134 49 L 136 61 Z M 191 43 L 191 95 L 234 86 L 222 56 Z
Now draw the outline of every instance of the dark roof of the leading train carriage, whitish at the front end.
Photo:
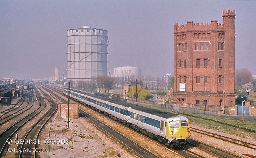
M 180 116 L 177 114 L 173 114 L 171 112 L 165 112 L 161 110 L 151 109 L 143 106 L 133 106 L 131 109 L 139 110 L 148 114 L 156 115 L 159 117 L 166 118 L 167 121 L 175 121 L 175 120 L 186 120 L 188 121 L 187 117 Z

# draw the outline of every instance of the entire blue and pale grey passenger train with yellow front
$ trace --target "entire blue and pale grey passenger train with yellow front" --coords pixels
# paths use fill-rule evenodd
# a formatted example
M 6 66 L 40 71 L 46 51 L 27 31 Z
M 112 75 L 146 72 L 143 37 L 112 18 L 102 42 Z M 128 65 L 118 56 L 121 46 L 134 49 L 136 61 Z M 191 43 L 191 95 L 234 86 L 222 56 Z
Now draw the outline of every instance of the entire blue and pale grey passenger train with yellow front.
M 68 88 L 63 94 L 68 95 Z M 181 147 L 191 141 L 186 117 L 73 89 L 70 98 L 169 147 Z

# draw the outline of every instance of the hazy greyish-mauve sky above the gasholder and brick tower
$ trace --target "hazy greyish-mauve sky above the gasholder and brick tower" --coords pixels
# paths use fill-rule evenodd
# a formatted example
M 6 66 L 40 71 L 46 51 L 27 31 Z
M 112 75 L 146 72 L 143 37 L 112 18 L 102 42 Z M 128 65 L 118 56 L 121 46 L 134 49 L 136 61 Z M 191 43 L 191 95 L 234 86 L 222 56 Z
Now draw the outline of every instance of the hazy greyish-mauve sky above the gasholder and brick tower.
M 0 0 L 0 79 L 48 78 L 55 68 L 62 75 L 67 30 L 88 25 L 108 30 L 108 69 L 173 75 L 174 24 L 223 23 L 228 9 L 236 11 L 236 69 L 256 75 L 255 7 L 256 1 Z

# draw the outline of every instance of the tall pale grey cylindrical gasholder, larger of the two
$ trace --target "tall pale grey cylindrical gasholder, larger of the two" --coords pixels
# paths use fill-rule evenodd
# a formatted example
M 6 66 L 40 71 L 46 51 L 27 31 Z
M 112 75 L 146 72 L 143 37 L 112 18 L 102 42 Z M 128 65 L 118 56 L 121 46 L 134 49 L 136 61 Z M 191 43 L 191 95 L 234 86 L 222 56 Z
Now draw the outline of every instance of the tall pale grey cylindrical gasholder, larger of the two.
M 67 39 L 67 81 L 107 76 L 107 30 L 91 26 L 68 29 Z

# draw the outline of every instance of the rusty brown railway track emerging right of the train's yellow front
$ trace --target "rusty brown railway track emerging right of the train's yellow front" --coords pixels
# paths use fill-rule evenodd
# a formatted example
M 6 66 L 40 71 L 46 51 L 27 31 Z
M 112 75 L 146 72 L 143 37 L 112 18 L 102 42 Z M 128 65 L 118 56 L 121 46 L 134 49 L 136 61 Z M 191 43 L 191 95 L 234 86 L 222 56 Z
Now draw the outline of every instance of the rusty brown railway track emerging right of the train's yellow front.
M 207 136 L 211 136 L 213 138 L 217 138 L 217 139 L 224 140 L 224 141 L 227 141 L 227 142 L 230 142 L 230 143 L 234 143 L 236 145 L 240 145 L 240 146 L 243 146 L 243 147 L 248 147 L 248 148 L 256 150 L 256 145 L 252 144 L 252 143 L 244 142 L 244 141 L 237 140 L 237 139 L 232 139 L 232 138 L 229 138 L 229 137 L 221 136 L 221 135 L 211 133 L 211 132 L 206 132 L 206 131 L 199 130 L 199 129 L 192 128 L 192 127 L 190 127 L 190 131 L 201 133 L 201 134 L 204 134 L 204 135 L 207 135 Z

